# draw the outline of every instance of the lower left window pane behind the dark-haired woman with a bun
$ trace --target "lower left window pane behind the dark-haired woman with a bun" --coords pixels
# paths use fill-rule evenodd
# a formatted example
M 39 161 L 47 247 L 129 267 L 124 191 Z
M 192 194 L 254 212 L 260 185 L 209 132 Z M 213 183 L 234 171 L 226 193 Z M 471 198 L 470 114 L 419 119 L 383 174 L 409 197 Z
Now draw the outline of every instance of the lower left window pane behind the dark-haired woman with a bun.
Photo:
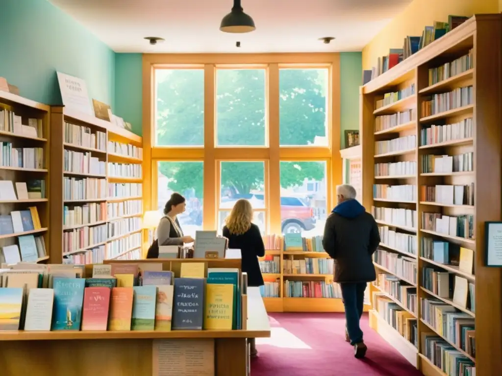
M 203 213 L 203 162 L 158 162 L 157 163 L 157 208 L 163 212 L 173 192 L 186 199 L 185 213 L 178 216 L 185 235 L 195 238 L 202 230 Z

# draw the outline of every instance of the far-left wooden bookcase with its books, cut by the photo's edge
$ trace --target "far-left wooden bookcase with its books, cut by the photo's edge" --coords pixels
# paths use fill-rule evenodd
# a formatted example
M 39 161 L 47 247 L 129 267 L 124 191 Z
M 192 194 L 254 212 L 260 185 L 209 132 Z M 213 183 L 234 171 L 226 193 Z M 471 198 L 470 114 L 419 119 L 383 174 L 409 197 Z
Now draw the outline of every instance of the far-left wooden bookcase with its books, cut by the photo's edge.
M 0 192 L 0 215 L 2 216 L 2 232 L 0 235 L 0 248 L 11 245 L 18 245 L 22 236 L 33 236 L 35 239 L 41 240 L 42 243 L 37 243 L 38 257 L 32 257 L 30 260 L 22 258 L 22 261 L 42 262 L 49 259 L 50 245 L 48 237 L 49 229 L 49 209 L 48 209 L 48 192 L 47 189 L 42 189 L 37 198 L 31 196 L 30 184 L 28 184 L 28 198 L 20 199 L 20 193 L 16 187 L 17 182 L 29 181 L 44 181 L 45 188 L 49 180 L 49 135 L 48 125 L 50 117 L 50 108 L 42 103 L 38 103 L 19 95 L 0 91 L 0 142 L 2 142 L 3 155 L 0 162 L 0 180 L 12 181 L 14 192 L 9 195 L 4 186 Z M 19 122 L 21 120 L 21 122 Z M 16 125 L 14 125 L 16 123 Z M 21 124 L 23 127 L 21 127 Z M 36 124 L 36 125 L 35 125 Z M 28 131 L 25 129 L 27 125 L 34 125 L 36 129 Z M 38 128 L 38 129 L 37 129 Z M 18 163 L 13 160 L 14 152 L 12 149 L 18 149 L 18 152 L 24 156 Z M 33 165 L 34 154 L 39 153 L 42 165 L 40 167 Z M 35 151 L 34 151 L 35 150 Z M 19 154 L 18 154 L 19 157 Z M 17 164 L 17 165 L 16 165 Z M 19 165 L 22 165 L 20 167 Z M 33 168 L 33 167 L 36 168 Z M 44 192 L 45 191 L 45 192 Z M 17 200 L 14 200 L 12 194 L 15 193 Z M 4 196 L 2 198 L 1 196 Z M 10 232 L 8 224 L 5 221 L 10 221 L 12 226 L 11 213 L 30 211 L 30 207 L 37 210 L 40 219 L 40 226 L 37 226 L 34 221 L 34 229 L 26 231 Z M 26 213 L 26 212 L 25 212 Z M 32 213 L 33 214 L 33 213 Z M 7 217 L 9 216 L 9 217 Z M 23 215 L 24 216 L 24 215 Z M 25 226 L 23 225 L 23 228 Z M 27 238 L 23 238 L 24 242 Z M 38 242 L 37 240 L 37 242 Z M 24 243 L 26 244 L 26 243 Z M 40 246 L 40 247 L 39 247 Z M 3 260 L 3 250 L 0 251 L 0 260 Z

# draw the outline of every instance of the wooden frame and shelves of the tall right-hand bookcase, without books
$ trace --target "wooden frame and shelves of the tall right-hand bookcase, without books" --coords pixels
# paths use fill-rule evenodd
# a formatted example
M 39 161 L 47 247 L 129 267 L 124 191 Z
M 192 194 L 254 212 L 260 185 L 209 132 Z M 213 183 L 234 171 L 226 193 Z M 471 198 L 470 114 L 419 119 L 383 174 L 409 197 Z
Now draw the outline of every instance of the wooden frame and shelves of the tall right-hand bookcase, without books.
M 372 207 L 390 209 L 409 209 L 416 211 L 413 223 L 396 220 L 387 215 L 376 216 L 379 226 L 387 226 L 390 231 L 398 234 L 413 235 L 410 246 L 416 248 L 416 254 L 407 253 L 407 249 L 393 244 L 385 244 L 381 249 L 391 254 L 399 254 L 409 259 L 408 266 L 416 266 L 416 275 L 398 274 L 393 268 L 376 266 L 377 273 L 386 273 L 398 277 L 402 282 L 409 282 L 417 286 L 416 310 L 412 311 L 410 305 L 400 301 L 388 291 L 371 286 L 372 310 L 370 311 L 370 326 L 386 338 L 398 349 L 411 363 L 415 364 L 425 375 L 445 375 L 432 356 L 428 358 L 426 351 L 427 335 L 442 337 L 445 343 L 464 354 L 466 359 L 475 363 L 478 374 L 498 374 L 502 369 L 502 273 L 500 268 L 486 267 L 485 264 L 485 238 L 484 223 L 486 221 L 500 221 L 502 217 L 502 198 L 500 197 L 500 184 L 502 182 L 502 132 L 500 131 L 500 104 L 502 100 L 502 83 L 499 79 L 502 69 L 500 56 L 500 43 L 502 31 L 501 15 L 476 15 L 457 27 L 447 35 L 434 41 L 424 49 L 412 55 L 388 72 L 376 77 L 360 91 L 360 139 L 362 143 L 362 201 L 367 211 Z M 443 66 L 456 59 L 465 56 L 471 51 L 472 67 L 465 64 L 460 69 L 452 69 L 446 79 L 430 81 L 429 69 Z M 461 65 L 461 64 L 460 64 Z M 414 91 L 406 91 L 414 85 Z M 464 89 L 461 95 L 455 92 L 455 101 L 451 106 L 445 106 L 444 96 L 437 96 L 437 108 L 434 112 L 428 112 L 425 102 L 435 94 L 452 92 L 455 89 L 472 86 L 471 100 L 458 101 L 459 97 L 468 95 L 468 89 Z M 398 97 L 394 103 L 382 101 L 384 95 L 403 90 L 404 94 Z M 452 98 L 453 95 L 450 95 Z M 383 104 L 378 107 L 377 104 Z M 392 115 L 414 109 L 414 116 L 407 119 L 401 115 L 400 120 L 388 127 L 376 128 L 376 124 L 382 124 L 382 119 L 376 116 Z M 471 118 L 472 121 L 465 120 Z M 386 121 L 389 121 L 387 119 Z M 424 129 L 431 125 L 465 124 L 470 122 L 472 132 L 457 132 L 461 125 L 450 127 L 454 129 L 450 134 L 442 133 L 443 138 L 428 137 Z M 434 132 L 438 135 L 439 128 Z M 396 147 L 385 148 L 379 141 L 389 141 L 400 137 L 414 136 L 415 143 L 405 141 L 391 141 Z M 445 136 L 445 137 L 444 137 Z M 389 145 L 389 144 L 387 144 Z M 399 146 L 399 147 L 397 147 Z M 472 153 L 472 168 L 458 169 L 454 166 L 452 171 L 442 172 L 440 167 L 433 170 L 430 165 L 423 163 L 426 155 L 460 155 Z M 456 157 L 459 158 L 459 157 Z M 467 158 L 467 157 L 462 157 Z M 428 158 L 430 159 L 430 158 Z M 465 160 L 468 160 L 465 159 Z M 400 165 L 385 165 L 375 168 L 376 163 L 416 162 L 416 168 L 412 171 L 402 170 L 405 163 Z M 386 171 L 388 169 L 389 171 Z M 375 173 L 375 171 L 377 171 Z M 374 184 L 412 185 L 411 189 L 403 187 L 399 189 L 379 190 Z M 436 194 L 429 192 L 431 197 L 423 197 L 421 186 L 435 187 L 436 185 L 474 185 L 474 205 L 465 201 L 462 205 L 445 204 L 436 189 Z M 387 196 L 382 192 L 385 191 Z M 399 193 L 413 194 L 412 197 L 399 195 Z M 470 194 L 470 193 L 469 193 Z M 389 196 L 393 195 L 393 196 Z M 376 197 L 379 197 L 377 199 Z M 437 200 L 438 202 L 435 202 Z M 456 202 L 458 204 L 458 202 Z M 396 213 L 396 212 L 394 212 Z M 473 216 L 473 236 L 461 234 L 459 229 L 456 233 L 437 231 L 431 227 L 428 213 L 442 216 Z M 446 235 L 449 234 L 449 235 Z M 405 238 L 406 235 L 398 235 Z M 463 247 L 473 251 L 472 273 L 462 271 L 455 265 L 447 265 L 426 257 L 422 252 L 423 242 L 427 239 L 448 242 L 451 252 L 454 246 Z M 392 256 L 391 257 L 395 257 Z M 430 289 L 425 288 L 428 281 L 424 277 L 426 268 L 438 272 L 447 272 L 450 278 L 455 276 L 464 278 L 468 283 L 474 284 L 475 313 L 469 305 L 470 292 L 467 294 L 467 304 L 454 302 L 452 294 L 445 297 L 439 296 Z M 410 271 L 413 269 L 409 269 Z M 412 280 L 413 279 L 413 280 Z M 430 285 L 430 283 L 429 283 Z M 450 287 L 454 285 L 453 279 Z M 380 298 L 379 298 L 380 296 Z M 406 314 L 414 316 L 417 320 L 416 343 L 413 344 L 394 329 L 382 314 L 378 312 L 376 303 L 382 301 L 382 296 L 387 296 L 402 308 Z M 426 320 L 428 312 L 424 309 L 423 299 L 436 299 L 457 312 L 474 317 L 475 325 L 475 356 L 467 353 L 465 348 L 460 348 L 458 342 L 454 343 L 451 337 L 441 334 L 433 324 Z M 446 361 L 445 361 L 446 362 Z

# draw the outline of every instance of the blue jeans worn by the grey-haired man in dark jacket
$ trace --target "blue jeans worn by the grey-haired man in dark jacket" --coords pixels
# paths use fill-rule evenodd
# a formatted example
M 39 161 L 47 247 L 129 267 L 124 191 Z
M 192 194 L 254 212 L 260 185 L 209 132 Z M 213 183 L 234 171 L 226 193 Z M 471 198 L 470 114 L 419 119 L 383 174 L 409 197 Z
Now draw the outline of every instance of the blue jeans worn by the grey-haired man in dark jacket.
M 364 290 L 366 282 L 345 282 L 340 283 L 342 290 L 343 305 L 345 306 L 345 320 L 350 344 L 362 342 L 362 330 L 359 320 L 362 316 L 364 306 Z

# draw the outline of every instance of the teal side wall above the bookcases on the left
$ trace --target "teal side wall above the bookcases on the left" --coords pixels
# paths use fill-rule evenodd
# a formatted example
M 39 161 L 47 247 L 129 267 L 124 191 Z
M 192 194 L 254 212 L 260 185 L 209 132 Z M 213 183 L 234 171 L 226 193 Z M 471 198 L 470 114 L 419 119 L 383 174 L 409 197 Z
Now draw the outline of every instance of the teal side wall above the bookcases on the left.
M 61 104 L 56 71 L 85 80 L 89 97 L 113 105 L 115 53 L 47 0 L 2 0 L 0 77 L 23 97 Z

